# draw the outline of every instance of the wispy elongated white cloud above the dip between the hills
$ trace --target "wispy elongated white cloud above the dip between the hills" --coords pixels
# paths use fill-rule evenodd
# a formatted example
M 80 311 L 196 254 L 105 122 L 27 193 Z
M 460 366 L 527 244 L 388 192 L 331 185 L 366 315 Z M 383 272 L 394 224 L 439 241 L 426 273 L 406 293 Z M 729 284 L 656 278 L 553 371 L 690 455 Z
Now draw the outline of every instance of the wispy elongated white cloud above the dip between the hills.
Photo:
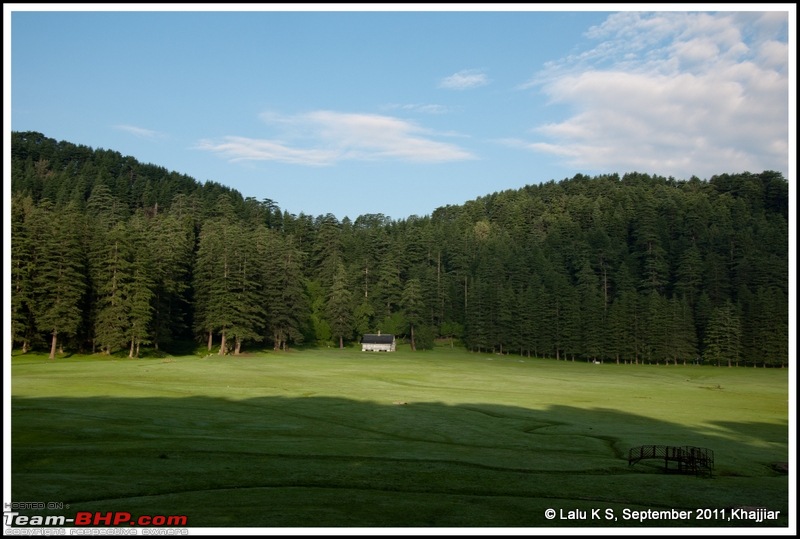
M 443 163 L 474 156 L 460 147 L 433 139 L 434 134 L 411 122 L 377 114 L 314 111 L 296 116 L 264 113 L 261 119 L 281 128 L 280 139 L 228 136 L 203 140 L 198 147 L 231 161 L 277 161 L 328 166 L 341 161 L 406 161 Z

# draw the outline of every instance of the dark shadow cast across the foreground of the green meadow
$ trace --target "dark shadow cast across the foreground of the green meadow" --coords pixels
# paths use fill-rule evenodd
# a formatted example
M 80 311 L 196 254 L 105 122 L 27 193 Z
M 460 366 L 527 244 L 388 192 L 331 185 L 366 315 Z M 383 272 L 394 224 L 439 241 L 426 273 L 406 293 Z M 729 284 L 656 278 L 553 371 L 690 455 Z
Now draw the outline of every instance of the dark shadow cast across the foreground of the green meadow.
M 788 477 L 774 467 L 788 460 L 788 428 L 767 422 L 693 429 L 617 410 L 328 397 L 14 397 L 11 433 L 13 501 L 63 503 L 54 514 L 68 517 L 186 515 L 193 527 L 788 525 Z M 710 448 L 715 476 L 629 466 L 628 449 L 643 444 Z M 623 518 L 736 507 L 780 519 Z M 545 517 L 550 508 L 557 518 Z

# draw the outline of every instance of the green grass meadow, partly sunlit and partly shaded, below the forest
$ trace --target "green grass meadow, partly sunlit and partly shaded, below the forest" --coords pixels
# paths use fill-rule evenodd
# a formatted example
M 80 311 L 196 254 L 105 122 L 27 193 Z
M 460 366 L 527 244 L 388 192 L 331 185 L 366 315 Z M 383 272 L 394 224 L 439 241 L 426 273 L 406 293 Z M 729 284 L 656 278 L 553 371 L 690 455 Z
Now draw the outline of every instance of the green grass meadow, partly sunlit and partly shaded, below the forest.
M 199 528 L 789 525 L 776 469 L 789 461 L 788 369 L 437 348 L 28 354 L 11 373 L 13 500 L 65 504 L 50 514 L 186 515 Z M 713 477 L 629 466 L 645 444 L 709 448 Z M 779 518 L 728 520 L 741 507 Z M 691 517 L 632 513 L 672 509 Z

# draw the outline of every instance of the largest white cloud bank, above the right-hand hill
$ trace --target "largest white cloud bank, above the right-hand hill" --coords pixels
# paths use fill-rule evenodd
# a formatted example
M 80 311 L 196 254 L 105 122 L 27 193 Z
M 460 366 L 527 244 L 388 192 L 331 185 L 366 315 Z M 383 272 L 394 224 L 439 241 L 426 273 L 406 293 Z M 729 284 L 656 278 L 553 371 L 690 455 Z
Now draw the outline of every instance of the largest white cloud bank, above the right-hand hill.
M 744 24 L 754 17 L 610 16 L 587 33 L 597 46 L 523 86 L 574 111 L 536 126 L 543 138 L 524 146 L 581 170 L 788 173 L 788 46 L 775 17 L 758 19 L 758 32 Z M 787 24 L 784 16 L 777 33 Z

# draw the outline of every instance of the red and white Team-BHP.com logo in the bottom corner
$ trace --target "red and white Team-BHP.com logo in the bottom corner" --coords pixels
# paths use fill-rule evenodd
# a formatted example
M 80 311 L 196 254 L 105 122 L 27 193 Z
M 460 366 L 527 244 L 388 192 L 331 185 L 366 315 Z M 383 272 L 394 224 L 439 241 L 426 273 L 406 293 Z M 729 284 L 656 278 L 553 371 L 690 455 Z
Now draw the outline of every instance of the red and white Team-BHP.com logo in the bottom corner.
M 20 515 L 4 511 L 6 526 L 186 526 L 186 515 L 141 515 L 133 517 L 125 511 L 78 511 L 75 518 L 60 515 Z

